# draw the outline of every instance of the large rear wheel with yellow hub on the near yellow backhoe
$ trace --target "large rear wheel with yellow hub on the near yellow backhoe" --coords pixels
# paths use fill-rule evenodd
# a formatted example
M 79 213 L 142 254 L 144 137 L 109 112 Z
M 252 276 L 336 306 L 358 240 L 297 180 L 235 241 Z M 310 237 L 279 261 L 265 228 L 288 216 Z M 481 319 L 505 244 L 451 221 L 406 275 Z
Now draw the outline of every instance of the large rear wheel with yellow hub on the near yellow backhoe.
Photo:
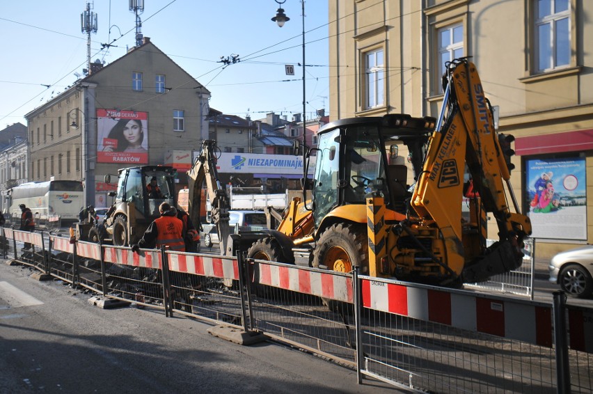
M 363 224 L 338 223 L 326 228 L 313 251 L 313 267 L 350 272 L 361 267 L 368 272 L 367 228 Z

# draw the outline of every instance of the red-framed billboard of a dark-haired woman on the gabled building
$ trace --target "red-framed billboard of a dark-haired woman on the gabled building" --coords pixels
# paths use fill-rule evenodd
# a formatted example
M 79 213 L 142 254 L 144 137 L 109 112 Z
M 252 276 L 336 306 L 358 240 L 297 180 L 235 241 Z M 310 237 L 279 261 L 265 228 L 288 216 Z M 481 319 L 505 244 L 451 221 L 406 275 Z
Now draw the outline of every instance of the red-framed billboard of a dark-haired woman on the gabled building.
M 148 164 L 148 112 L 97 109 L 97 163 Z

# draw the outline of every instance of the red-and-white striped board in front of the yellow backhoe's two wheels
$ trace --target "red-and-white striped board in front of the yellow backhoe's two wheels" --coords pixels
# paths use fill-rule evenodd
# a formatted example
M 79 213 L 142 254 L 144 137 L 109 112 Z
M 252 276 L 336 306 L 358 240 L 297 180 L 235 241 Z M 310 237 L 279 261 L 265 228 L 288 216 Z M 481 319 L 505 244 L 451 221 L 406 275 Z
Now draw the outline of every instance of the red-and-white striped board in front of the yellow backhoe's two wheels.
M 295 265 L 258 262 L 255 282 L 318 297 L 354 303 L 352 278 L 333 271 L 314 271 Z

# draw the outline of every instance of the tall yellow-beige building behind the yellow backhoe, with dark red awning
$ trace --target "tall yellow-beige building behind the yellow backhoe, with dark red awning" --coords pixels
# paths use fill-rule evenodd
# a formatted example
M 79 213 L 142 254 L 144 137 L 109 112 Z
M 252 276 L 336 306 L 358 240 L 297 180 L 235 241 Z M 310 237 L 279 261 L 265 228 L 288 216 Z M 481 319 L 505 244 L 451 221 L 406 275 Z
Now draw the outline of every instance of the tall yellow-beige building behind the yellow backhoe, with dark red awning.
M 498 131 L 516 137 L 512 184 L 537 254 L 593 242 L 593 2 L 329 4 L 330 120 L 437 117 L 445 62 L 471 56 Z M 545 206 L 544 190 L 553 196 Z

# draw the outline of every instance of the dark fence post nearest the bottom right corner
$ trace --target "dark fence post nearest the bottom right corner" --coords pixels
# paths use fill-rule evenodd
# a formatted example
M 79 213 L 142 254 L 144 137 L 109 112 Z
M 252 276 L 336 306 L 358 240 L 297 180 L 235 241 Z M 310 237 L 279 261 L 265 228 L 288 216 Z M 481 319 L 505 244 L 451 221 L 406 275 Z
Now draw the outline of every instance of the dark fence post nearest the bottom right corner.
M 558 290 L 553 292 L 553 298 L 557 392 L 570 393 L 570 368 L 566 317 L 567 296 L 562 290 Z

